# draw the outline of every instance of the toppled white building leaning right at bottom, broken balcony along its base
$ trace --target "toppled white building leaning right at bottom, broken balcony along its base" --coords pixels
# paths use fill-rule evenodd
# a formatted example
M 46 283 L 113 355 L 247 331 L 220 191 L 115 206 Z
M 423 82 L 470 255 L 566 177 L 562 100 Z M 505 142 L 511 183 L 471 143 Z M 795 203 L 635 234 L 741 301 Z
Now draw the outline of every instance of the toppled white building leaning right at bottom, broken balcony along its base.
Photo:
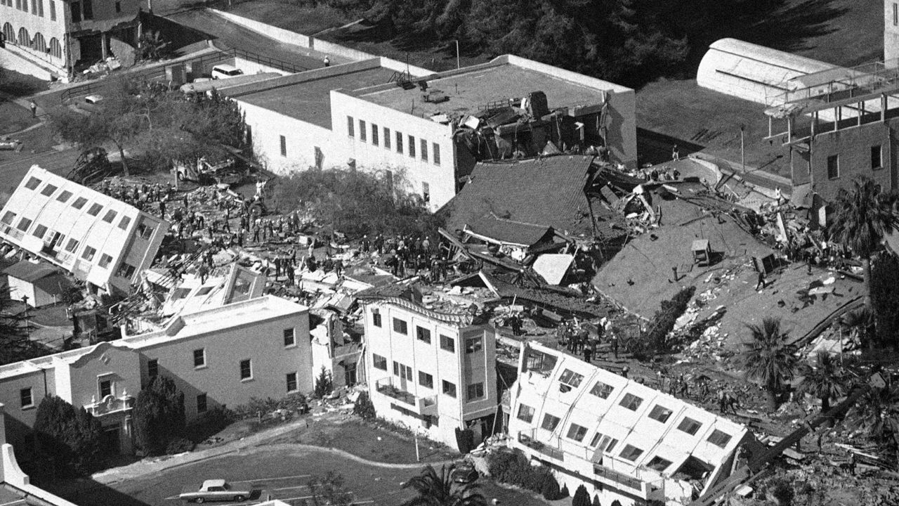
M 730 475 L 737 449 L 755 441 L 742 425 L 536 343 L 522 345 L 519 372 L 510 445 L 603 504 L 689 502 Z

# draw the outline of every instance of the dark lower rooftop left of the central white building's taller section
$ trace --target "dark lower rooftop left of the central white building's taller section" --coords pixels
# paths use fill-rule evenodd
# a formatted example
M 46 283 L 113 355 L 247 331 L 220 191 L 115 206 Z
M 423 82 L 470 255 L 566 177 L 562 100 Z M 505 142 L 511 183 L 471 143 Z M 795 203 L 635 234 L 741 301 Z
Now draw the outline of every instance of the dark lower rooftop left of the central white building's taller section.
M 271 87 L 263 91 L 235 95 L 235 98 L 330 130 L 331 90 L 357 90 L 383 85 L 395 73 L 390 68 L 365 68 L 283 86 L 278 86 L 276 79 L 270 81 Z

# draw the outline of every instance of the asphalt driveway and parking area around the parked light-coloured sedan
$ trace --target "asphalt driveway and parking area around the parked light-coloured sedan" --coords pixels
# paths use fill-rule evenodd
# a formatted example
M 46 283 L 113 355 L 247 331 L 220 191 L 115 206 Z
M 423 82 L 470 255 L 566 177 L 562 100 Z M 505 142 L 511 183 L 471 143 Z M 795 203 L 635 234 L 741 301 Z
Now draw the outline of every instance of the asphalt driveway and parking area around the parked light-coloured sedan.
M 401 483 L 417 474 L 418 469 L 396 469 L 362 464 L 323 450 L 296 447 L 254 447 L 239 454 L 228 454 L 191 465 L 182 465 L 146 477 L 129 479 L 111 485 L 80 487 L 64 497 L 81 506 L 176 506 L 182 488 L 199 485 L 211 478 L 224 478 L 241 485 L 251 483 L 260 492 L 247 506 L 264 501 L 271 495 L 290 504 L 309 497 L 310 475 L 324 476 L 328 471 L 343 475 L 346 488 L 353 492 L 355 504 L 396 506 L 411 494 Z M 482 480 L 483 481 L 483 480 Z M 485 483 L 485 496 L 497 497 L 503 504 L 545 506 L 530 495 Z

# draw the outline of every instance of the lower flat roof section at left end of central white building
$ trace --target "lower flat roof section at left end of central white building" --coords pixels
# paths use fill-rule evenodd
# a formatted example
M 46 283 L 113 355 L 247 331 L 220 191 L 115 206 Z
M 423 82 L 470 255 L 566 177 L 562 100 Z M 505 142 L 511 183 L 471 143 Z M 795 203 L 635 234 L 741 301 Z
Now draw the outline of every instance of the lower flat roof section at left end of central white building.
M 351 64 L 270 79 L 264 81 L 264 86 L 259 83 L 240 86 L 228 90 L 228 95 L 240 102 L 278 111 L 330 130 L 331 90 L 356 90 L 382 85 L 394 74 L 396 70 L 380 65 L 359 68 Z

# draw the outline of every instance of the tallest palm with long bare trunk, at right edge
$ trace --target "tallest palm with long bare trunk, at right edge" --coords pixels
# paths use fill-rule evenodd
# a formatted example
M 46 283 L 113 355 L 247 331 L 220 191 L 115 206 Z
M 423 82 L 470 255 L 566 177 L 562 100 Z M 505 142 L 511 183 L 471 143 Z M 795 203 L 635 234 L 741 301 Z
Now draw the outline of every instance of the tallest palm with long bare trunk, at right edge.
M 851 190 L 840 188 L 833 203 L 831 239 L 848 246 L 862 259 L 865 276 L 865 305 L 871 305 L 871 256 L 880 248 L 886 233 L 895 229 L 895 195 L 885 193 L 868 177 L 858 177 Z

